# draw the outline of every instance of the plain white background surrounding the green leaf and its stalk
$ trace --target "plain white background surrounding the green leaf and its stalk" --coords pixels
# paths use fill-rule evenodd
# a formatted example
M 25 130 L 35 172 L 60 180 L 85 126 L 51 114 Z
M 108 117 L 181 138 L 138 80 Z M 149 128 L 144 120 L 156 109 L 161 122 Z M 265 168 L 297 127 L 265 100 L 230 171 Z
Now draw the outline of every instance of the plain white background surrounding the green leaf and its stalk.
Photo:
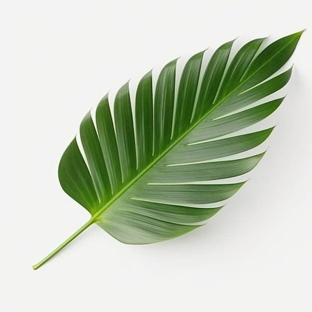
M 312 311 L 308 3 L 1 1 L 1 312 Z M 237 36 L 304 28 L 270 149 L 206 226 L 131 246 L 94 225 L 32 270 L 89 218 L 62 191 L 57 166 L 106 92 Z

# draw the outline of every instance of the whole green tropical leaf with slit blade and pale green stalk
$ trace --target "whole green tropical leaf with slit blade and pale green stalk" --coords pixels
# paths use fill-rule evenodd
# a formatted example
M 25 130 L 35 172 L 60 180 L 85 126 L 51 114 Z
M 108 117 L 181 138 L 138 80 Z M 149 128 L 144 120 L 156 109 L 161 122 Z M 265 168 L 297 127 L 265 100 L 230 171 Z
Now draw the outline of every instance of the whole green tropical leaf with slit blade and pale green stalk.
M 188 233 L 217 213 L 245 183 L 223 179 L 245 174 L 264 155 L 238 156 L 262 144 L 273 128 L 236 132 L 262 121 L 282 103 L 283 98 L 266 97 L 289 81 L 292 68 L 278 71 L 302 32 L 265 48 L 265 38 L 252 40 L 233 57 L 234 41 L 229 41 L 208 64 L 201 51 L 189 58 L 178 81 L 175 59 L 162 68 L 155 94 L 152 71 L 141 79 L 134 109 L 129 83 L 123 85 L 113 116 L 106 95 L 94 120 L 90 112 L 83 119 L 81 147 L 75 138 L 58 171 L 63 190 L 91 218 L 33 268 L 93 223 L 121 242 L 148 244 Z

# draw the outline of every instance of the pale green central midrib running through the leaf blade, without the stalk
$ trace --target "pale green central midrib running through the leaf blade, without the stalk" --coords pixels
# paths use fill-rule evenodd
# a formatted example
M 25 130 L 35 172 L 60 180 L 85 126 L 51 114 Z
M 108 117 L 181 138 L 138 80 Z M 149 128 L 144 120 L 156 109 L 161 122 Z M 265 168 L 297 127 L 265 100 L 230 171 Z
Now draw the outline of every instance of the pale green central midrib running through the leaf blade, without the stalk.
M 183 135 L 176 139 L 172 144 L 170 144 L 161 154 L 159 154 L 145 169 L 143 169 L 134 179 L 132 179 L 125 187 L 123 187 L 114 197 L 112 197 L 98 212 L 96 212 L 90 219 L 92 223 L 97 221 L 97 218 L 102 215 L 102 213 L 109 208 L 115 201 L 117 201 L 129 188 L 132 187 L 145 173 L 147 173 L 154 165 L 171 149 L 173 149 L 183 138 L 185 138 L 195 127 L 197 127 L 208 115 L 215 110 L 220 104 L 227 100 L 233 93 L 235 93 L 246 81 L 248 81 L 252 76 L 254 76 L 261 68 L 263 68 L 272 58 L 274 58 L 280 51 L 284 50 L 293 40 L 286 44 L 283 49 L 279 50 L 273 54 L 266 62 L 264 62 L 252 75 L 249 75 L 245 80 L 241 81 L 237 87 L 232 90 L 227 96 L 217 102 L 206 114 L 203 115 L 196 123 L 194 123 L 188 130 L 186 130 Z M 282 65 L 283 66 L 283 65 Z M 225 72 L 223 73 L 223 75 Z

